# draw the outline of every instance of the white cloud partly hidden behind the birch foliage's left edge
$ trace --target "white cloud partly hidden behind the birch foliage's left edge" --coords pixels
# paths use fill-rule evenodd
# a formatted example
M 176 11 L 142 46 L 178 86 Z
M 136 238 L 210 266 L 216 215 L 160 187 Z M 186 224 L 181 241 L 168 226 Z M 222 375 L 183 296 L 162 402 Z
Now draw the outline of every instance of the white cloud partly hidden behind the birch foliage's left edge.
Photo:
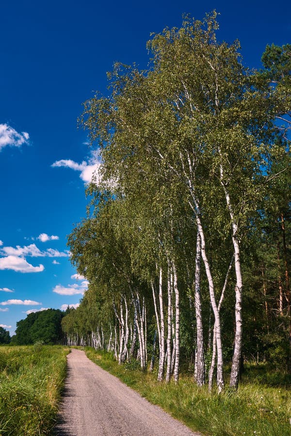
M 98 154 L 93 154 L 88 162 L 82 161 L 81 164 L 75 162 L 71 159 L 61 159 L 54 162 L 51 166 L 55 167 L 65 167 L 70 168 L 71 170 L 80 171 L 80 178 L 85 183 L 89 183 L 92 180 L 92 177 L 95 177 L 95 183 L 98 185 L 100 178 L 98 174 L 98 169 L 100 167 L 100 158 Z

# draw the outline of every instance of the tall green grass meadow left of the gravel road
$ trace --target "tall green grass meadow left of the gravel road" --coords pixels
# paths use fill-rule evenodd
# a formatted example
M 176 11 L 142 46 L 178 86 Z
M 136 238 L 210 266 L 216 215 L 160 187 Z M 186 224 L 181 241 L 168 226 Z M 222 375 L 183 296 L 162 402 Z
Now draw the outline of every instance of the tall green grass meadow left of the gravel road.
M 0 435 L 50 434 L 66 374 L 63 346 L 0 347 Z

